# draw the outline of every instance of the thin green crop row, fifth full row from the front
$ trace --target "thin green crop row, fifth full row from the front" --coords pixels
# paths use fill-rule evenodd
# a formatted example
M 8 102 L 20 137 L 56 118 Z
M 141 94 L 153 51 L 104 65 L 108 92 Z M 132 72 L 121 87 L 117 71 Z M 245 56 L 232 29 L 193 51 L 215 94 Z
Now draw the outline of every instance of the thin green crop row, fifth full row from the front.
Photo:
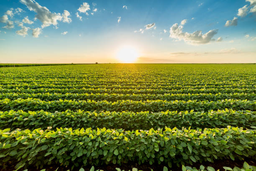
M 202 88 L 202 89 L 106 89 L 106 88 L 0 88 L 1 93 L 108 93 L 108 94 L 195 94 L 195 93 L 256 93 L 256 88 Z

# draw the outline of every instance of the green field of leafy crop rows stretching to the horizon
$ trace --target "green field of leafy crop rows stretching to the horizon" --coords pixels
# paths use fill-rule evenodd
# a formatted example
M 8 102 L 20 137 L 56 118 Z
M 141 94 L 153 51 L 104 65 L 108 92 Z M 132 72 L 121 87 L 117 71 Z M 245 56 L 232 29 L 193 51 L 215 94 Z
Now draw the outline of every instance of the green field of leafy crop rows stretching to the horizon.
M 256 166 L 255 93 L 253 64 L 0 68 L 0 167 Z

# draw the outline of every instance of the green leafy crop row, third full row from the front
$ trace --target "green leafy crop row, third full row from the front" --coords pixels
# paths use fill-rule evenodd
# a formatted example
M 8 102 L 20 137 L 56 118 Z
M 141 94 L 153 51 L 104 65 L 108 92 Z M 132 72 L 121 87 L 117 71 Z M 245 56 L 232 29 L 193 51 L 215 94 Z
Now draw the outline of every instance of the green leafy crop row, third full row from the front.
M 256 101 L 247 100 L 222 100 L 222 101 L 75 101 L 61 100 L 58 101 L 41 101 L 40 99 L 16 99 L 11 101 L 6 98 L 0 100 L 0 110 L 23 110 L 23 111 L 66 111 L 68 109 L 77 111 L 208 111 L 218 109 L 233 109 L 233 110 L 251 110 L 256 111 Z

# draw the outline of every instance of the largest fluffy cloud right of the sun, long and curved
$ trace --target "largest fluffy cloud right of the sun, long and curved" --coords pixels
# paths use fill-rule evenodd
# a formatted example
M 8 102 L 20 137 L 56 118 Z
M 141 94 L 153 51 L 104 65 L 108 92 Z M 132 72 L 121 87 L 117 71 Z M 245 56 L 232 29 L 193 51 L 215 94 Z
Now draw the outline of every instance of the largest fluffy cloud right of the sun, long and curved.
M 184 40 L 189 44 L 206 44 L 214 41 L 212 37 L 218 33 L 218 30 L 210 30 L 205 34 L 202 31 L 195 31 L 193 33 L 183 32 L 183 25 L 178 25 L 178 23 L 172 25 L 170 28 L 170 38 L 177 40 Z

